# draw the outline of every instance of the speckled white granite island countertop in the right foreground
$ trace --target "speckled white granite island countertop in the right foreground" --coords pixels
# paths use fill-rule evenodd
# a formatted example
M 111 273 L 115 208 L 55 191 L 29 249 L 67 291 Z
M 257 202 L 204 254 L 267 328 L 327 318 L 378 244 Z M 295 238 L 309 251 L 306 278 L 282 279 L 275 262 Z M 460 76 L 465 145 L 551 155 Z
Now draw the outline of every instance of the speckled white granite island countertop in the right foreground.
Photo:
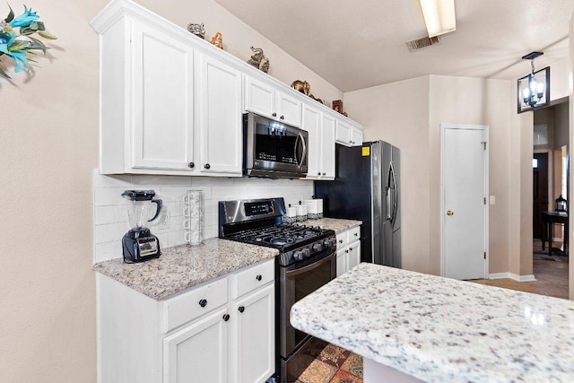
M 361 264 L 291 325 L 428 382 L 574 381 L 574 301 Z

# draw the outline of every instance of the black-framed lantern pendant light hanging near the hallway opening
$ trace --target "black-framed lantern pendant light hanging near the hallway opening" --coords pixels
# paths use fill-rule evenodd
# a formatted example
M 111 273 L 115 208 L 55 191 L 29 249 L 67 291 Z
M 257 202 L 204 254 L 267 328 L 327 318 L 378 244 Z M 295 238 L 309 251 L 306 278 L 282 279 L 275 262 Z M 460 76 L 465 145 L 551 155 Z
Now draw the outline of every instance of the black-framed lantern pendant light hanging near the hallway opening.
M 518 79 L 518 113 L 550 104 L 550 66 L 535 72 L 535 58 L 542 55 L 543 52 L 532 52 L 522 57 L 530 60 L 532 72 Z

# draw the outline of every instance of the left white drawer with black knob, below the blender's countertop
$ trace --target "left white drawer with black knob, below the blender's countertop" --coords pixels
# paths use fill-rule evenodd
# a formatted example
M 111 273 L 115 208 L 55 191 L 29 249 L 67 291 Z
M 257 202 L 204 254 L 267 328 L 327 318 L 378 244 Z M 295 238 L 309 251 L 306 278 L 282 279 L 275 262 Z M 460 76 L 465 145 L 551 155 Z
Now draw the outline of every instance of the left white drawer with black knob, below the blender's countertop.
M 199 318 L 227 303 L 227 278 L 198 287 L 163 304 L 164 331 Z

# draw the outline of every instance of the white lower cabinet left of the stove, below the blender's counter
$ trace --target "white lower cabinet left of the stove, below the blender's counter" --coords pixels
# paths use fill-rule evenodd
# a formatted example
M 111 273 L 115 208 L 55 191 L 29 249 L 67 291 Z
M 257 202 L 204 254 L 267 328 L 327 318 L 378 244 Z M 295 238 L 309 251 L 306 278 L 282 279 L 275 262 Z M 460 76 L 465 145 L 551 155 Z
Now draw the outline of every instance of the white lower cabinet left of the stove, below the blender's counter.
M 274 373 L 274 260 L 168 300 L 97 274 L 98 382 L 261 383 Z

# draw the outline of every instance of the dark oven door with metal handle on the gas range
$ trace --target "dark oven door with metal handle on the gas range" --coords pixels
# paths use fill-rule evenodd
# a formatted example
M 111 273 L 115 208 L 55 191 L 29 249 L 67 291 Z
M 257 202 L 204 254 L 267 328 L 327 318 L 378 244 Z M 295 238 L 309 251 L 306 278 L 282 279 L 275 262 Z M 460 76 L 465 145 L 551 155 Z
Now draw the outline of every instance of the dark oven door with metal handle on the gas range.
M 291 306 L 301 298 L 315 292 L 319 287 L 335 279 L 336 253 L 334 248 L 326 249 L 315 257 L 298 264 L 279 267 L 279 347 L 286 359 L 304 344 L 310 335 L 291 326 Z

